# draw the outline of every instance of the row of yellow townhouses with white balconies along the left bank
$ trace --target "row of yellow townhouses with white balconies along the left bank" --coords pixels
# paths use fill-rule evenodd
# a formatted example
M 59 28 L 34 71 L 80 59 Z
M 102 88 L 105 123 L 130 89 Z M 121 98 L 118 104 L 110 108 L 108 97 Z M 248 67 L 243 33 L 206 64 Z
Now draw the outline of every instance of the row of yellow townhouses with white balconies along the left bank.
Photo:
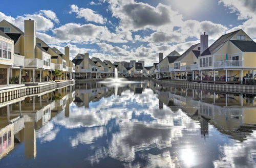
M 36 37 L 36 22 L 24 20 L 24 32 L 6 20 L 0 22 L 0 85 L 41 83 L 55 77 L 74 78 L 75 65 L 65 53 Z M 58 71 L 56 71 L 58 70 Z

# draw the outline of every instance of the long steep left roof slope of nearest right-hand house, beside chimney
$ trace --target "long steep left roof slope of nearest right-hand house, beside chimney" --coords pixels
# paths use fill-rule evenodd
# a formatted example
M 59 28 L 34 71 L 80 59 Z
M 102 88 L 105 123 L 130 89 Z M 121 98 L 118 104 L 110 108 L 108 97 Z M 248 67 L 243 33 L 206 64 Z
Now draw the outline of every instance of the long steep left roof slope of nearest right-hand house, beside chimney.
M 210 55 L 217 52 L 228 40 L 230 40 L 234 35 L 236 35 L 240 30 L 222 35 L 218 40 L 216 40 L 213 44 L 211 44 L 200 56 Z

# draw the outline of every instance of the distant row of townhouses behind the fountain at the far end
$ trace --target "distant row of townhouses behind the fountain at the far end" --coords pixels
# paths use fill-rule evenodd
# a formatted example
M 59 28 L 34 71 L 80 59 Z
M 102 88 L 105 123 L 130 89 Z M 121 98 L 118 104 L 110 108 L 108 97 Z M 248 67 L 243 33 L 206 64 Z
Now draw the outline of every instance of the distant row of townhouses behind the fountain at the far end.
M 117 69 L 118 77 L 151 77 L 155 74 L 155 66 L 145 67 L 143 62 L 134 62 L 133 66 L 125 66 L 123 62 L 108 60 L 101 61 L 99 58 L 89 58 L 89 53 L 78 53 L 72 60 L 75 64 L 76 78 L 105 78 L 114 77 Z

